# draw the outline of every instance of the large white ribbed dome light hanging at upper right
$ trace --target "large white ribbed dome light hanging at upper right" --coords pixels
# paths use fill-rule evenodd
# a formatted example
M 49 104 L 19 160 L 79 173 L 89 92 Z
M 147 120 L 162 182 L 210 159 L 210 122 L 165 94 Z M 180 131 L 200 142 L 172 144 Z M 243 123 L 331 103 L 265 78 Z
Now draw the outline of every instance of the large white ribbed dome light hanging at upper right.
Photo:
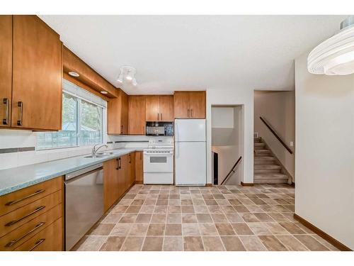
M 307 57 L 312 74 L 345 75 L 354 73 L 354 16 L 341 23 L 341 31 L 319 44 Z

